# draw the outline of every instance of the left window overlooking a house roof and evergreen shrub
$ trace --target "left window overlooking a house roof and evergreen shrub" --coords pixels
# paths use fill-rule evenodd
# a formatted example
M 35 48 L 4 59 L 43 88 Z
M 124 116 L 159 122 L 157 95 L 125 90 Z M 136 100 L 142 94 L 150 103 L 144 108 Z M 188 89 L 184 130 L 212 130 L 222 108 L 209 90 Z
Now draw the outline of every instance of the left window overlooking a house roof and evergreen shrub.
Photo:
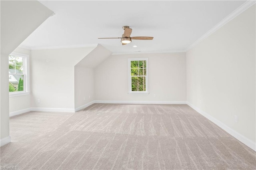
M 28 55 L 12 53 L 9 55 L 9 93 L 26 95 L 28 92 Z

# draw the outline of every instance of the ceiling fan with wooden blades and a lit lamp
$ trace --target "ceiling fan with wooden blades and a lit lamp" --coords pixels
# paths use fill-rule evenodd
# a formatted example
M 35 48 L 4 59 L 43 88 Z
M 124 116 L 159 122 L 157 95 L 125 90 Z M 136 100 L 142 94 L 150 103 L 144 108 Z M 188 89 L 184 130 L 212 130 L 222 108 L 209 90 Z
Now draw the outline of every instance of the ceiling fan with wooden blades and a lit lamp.
M 132 34 L 132 29 L 129 26 L 123 26 L 124 34 L 121 38 L 122 45 L 126 45 L 132 40 L 153 40 L 154 37 L 130 37 Z M 111 38 L 98 38 L 98 39 L 111 39 Z

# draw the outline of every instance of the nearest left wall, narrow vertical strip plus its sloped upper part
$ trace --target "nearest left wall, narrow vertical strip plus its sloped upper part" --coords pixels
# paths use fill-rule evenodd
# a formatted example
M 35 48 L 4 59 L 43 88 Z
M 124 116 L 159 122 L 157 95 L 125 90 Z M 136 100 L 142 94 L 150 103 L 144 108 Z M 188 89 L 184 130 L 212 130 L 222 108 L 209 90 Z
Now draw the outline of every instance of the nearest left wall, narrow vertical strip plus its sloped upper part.
M 10 142 L 8 55 L 53 12 L 38 1 L 1 1 L 1 146 Z M 8 138 L 8 140 L 4 140 Z M 6 142 L 5 142 L 6 141 Z

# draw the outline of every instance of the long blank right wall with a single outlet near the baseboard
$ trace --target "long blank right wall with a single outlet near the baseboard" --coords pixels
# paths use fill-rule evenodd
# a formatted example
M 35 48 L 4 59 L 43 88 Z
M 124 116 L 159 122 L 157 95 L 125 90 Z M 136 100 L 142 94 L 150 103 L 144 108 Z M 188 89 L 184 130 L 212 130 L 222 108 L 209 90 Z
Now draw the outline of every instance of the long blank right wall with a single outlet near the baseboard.
M 254 143 L 255 29 L 254 5 L 186 54 L 188 102 Z

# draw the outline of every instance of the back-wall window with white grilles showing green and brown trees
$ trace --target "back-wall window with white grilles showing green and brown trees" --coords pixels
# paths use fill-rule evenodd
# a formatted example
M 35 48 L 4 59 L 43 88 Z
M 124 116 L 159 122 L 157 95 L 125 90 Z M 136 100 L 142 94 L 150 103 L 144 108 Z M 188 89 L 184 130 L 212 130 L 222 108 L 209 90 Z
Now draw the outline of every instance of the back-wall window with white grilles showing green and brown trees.
M 148 59 L 128 59 L 128 63 L 128 94 L 148 94 Z

